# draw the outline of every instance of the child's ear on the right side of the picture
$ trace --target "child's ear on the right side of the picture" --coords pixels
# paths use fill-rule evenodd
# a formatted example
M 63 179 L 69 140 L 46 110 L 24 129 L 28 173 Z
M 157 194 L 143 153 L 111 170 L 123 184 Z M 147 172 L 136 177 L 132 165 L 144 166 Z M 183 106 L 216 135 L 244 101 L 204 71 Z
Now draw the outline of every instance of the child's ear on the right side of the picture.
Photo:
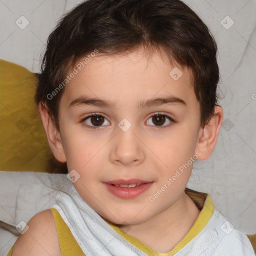
M 213 116 L 199 131 L 195 150 L 195 152 L 199 151 L 201 153 L 200 156 L 197 157 L 198 160 L 205 160 L 212 153 L 217 142 L 222 120 L 223 110 L 220 106 L 215 105 Z

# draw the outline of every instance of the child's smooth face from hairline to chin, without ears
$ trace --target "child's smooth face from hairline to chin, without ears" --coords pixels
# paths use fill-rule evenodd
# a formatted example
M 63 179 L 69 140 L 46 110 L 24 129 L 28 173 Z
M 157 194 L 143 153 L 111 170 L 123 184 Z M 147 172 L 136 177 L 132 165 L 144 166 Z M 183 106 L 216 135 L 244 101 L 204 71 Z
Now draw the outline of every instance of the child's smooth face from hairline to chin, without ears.
M 179 67 L 183 74 L 175 80 L 175 75 L 175 79 L 169 75 L 173 67 L 167 58 L 155 53 L 147 59 L 141 50 L 126 56 L 97 54 L 68 82 L 61 97 L 59 126 L 64 157 L 68 171 L 74 169 L 80 175 L 73 185 L 82 199 L 114 223 L 140 223 L 182 203 L 191 158 L 198 154 L 200 106 L 188 69 Z M 116 105 L 70 105 L 85 96 Z M 179 98 L 184 103 L 137 106 L 156 97 Z M 105 118 L 80 121 L 95 112 Z M 150 117 L 155 112 L 161 114 L 158 119 Z M 97 123 L 99 128 L 91 128 Z M 151 183 L 142 185 L 141 193 L 137 188 L 114 188 L 104 183 L 118 179 Z M 123 198 L 128 189 L 135 190 L 133 197 Z

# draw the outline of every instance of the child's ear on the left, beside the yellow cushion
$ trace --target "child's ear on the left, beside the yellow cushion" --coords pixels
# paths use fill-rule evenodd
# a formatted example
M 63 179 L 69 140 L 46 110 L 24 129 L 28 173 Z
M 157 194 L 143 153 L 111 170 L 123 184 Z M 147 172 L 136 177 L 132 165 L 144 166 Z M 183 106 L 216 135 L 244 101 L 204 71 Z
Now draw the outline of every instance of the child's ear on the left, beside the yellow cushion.
M 45 130 L 49 146 L 55 158 L 60 162 L 65 162 L 66 157 L 64 153 L 60 132 L 55 127 L 52 118 L 48 113 L 47 108 L 41 102 L 38 104 L 38 109 L 40 112 L 43 128 Z

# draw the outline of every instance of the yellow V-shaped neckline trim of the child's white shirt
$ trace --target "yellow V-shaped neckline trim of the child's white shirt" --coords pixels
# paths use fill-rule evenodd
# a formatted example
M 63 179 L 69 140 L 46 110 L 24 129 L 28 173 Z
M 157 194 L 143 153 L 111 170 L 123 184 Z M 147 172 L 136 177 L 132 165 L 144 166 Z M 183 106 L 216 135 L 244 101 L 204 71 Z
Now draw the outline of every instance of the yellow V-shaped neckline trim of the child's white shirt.
M 193 190 L 190 190 L 193 191 Z M 196 191 L 194 191 L 196 192 Z M 206 194 L 205 194 L 206 195 Z M 191 197 L 191 196 L 190 196 Z M 197 200 L 196 193 L 195 196 L 191 197 L 192 200 L 195 202 Z M 121 235 L 124 239 L 126 239 L 128 242 L 133 244 L 138 249 L 145 252 L 148 256 L 172 256 L 179 250 L 181 250 L 188 242 L 190 242 L 206 225 L 206 223 L 209 221 L 210 217 L 212 216 L 214 211 L 214 206 L 212 204 L 210 195 L 207 194 L 206 199 L 204 201 L 204 205 L 196 218 L 194 224 L 189 229 L 189 231 L 186 233 L 186 235 L 180 240 L 173 249 L 171 249 L 167 253 L 159 253 L 149 247 L 147 244 L 141 242 L 140 240 L 136 239 L 135 237 L 127 234 L 122 229 L 120 229 L 117 225 L 113 224 L 112 222 L 109 222 L 108 220 L 104 219 L 119 235 Z

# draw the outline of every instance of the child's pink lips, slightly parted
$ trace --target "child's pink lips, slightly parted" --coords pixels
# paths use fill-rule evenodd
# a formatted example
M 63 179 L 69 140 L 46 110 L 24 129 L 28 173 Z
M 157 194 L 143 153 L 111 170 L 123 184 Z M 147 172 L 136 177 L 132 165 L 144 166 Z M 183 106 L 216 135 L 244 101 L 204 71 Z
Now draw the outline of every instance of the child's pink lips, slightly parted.
M 143 193 L 145 190 L 147 190 L 151 185 L 153 181 L 144 181 L 141 179 L 118 179 L 118 180 L 111 180 L 103 182 L 103 184 L 106 186 L 107 190 L 112 193 L 113 195 L 120 197 L 120 198 L 133 198 L 141 193 Z M 118 184 L 139 184 L 136 187 L 120 187 L 115 186 Z

